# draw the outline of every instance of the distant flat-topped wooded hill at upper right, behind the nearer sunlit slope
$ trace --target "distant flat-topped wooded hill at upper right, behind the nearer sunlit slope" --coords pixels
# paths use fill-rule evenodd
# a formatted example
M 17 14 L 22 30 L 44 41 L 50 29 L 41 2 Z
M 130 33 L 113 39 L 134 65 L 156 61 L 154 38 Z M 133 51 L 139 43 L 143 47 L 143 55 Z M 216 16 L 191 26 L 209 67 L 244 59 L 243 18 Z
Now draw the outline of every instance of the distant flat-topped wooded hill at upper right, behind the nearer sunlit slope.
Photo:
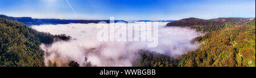
M 209 20 L 187 18 L 168 23 L 167 26 L 190 27 L 197 29 L 197 31 L 212 32 L 224 28 L 234 28 L 250 19 L 253 18 L 217 18 Z

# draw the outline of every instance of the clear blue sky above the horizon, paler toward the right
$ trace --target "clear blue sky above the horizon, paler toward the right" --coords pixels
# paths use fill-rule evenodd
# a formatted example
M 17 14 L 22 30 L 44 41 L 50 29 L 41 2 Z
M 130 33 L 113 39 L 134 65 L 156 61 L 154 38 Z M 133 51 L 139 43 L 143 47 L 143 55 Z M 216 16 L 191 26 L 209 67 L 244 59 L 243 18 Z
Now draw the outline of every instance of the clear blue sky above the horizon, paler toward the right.
M 254 18 L 255 0 L 0 0 L 0 14 L 88 20 Z

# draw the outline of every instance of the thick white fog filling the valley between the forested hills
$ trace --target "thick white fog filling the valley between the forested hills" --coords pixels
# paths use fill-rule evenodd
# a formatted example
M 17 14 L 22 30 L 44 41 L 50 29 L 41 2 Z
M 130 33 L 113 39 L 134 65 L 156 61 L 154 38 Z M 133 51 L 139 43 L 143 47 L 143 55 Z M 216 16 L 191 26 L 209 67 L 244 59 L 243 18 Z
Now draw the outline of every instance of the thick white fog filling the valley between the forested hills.
M 118 24 L 124 23 L 115 23 Z M 166 24 L 159 22 L 157 47 L 147 47 L 147 42 L 141 41 L 98 41 L 97 33 L 101 29 L 94 23 L 34 25 L 31 28 L 39 32 L 66 34 L 72 37 L 69 41 L 56 41 L 52 45 L 42 44 L 40 47 L 47 53 L 44 54 L 45 63 L 51 60 L 58 66 L 63 66 L 61 64 L 75 60 L 80 66 L 85 66 L 88 62 L 93 66 L 132 66 L 131 63 L 139 57 L 138 51 L 141 49 L 176 57 L 198 47 L 199 44 L 192 40 L 203 33 L 190 28 L 165 27 Z

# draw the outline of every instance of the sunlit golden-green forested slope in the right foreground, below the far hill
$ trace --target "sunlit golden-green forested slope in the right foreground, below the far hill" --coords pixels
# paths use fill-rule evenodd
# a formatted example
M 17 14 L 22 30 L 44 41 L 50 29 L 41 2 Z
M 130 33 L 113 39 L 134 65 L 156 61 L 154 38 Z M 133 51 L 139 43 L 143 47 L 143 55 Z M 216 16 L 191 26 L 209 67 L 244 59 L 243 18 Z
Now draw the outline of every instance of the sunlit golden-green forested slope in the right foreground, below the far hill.
M 201 43 L 200 49 L 184 54 L 186 57 L 178 66 L 255 67 L 255 19 L 234 28 L 207 33 L 196 40 Z

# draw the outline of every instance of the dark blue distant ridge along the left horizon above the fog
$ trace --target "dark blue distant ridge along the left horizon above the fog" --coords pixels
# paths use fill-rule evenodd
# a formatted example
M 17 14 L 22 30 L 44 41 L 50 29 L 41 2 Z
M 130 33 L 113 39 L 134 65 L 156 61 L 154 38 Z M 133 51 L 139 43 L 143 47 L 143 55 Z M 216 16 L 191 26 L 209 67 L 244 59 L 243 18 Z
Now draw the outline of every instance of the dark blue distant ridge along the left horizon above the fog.
M 11 17 L 11 16 L 10 16 L 10 19 L 19 21 L 20 23 L 26 24 L 28 26 L 42 25 L 42 24 L 69 24 L 69 23 L 88 24 L 88 23 L 99 23 L 100 21 L 105 21 L 106 23 L 110 23 L 109 20 L 32 19 L 30 17 L 15 18 L 15 17 Z M 124 21 L 124 20 L 115 20 L 114 22 L 115 23 L 117 23 L 117 22 L 127 23 L 127 21 Z

